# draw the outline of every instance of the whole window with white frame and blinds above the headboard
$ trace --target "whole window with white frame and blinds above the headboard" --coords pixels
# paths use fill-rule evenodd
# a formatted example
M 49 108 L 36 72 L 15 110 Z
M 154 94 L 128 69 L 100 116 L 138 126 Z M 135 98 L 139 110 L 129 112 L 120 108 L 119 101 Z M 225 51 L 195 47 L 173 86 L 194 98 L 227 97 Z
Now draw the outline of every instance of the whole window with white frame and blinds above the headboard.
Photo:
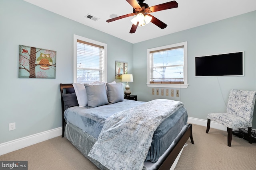
M 74 35 L 74 82 L 104 82 L 106 78 L 107 45 Z

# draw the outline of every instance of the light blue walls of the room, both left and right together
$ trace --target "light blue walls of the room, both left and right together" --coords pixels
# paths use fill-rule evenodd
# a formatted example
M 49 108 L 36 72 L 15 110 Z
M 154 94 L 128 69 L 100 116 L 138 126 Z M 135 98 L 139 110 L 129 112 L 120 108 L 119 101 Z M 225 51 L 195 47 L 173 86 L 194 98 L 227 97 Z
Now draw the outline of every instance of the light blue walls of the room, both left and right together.
M 256 12 L 251 12 L 133 45 L 22 0 L 1 0 L 0 143 L 61 127 L 59 84 L 73 82 L 73 34 L 108 45 L 108 82 L 115 80 L 115 61 L 126 61 L 139 100 L 180 100 L 190 117 L 206 119 L 210 112 L 225 111 L 230 89 L 256 90 L 255 30 Z M 179 89 L 179 98 L 152 96 L 146 86 L 147 49 L 183 41 L 188 41 L 188 88 Z M 57 51 L 56 79 L 18 78 L 19 45 Z M 245 51 L 244 77 L 194 77 L 194 57 L 235 51 Z M 16 130 L 9 131 L 12 122 Z

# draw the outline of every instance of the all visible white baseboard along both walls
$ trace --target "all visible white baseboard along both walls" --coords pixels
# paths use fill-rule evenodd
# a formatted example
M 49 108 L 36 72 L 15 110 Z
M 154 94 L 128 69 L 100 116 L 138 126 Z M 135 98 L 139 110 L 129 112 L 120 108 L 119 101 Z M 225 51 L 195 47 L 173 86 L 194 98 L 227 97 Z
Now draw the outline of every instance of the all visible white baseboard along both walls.
M 205 127 L 207 126 L 207 120 L 204 120 L 204 119 L 188 117 L 188 122 L 192 123 L 192 124 L 196 124 L 196 125 L 205 126 Z M 226 131 L 226 127 L 224 127 L 223 125 L 220 125 L 216 122 L 213 122 L 213 121 L 211 122 L 211 128 Z M 37 133 L 37 134 L 23 137 L 20 139 L 15 139 L 13 141 L 9 141 L 6 143 L 1 143 L 0 144 L 0 155 L 12 152 L 14 150 L 22 149 L 24 147 L 28 147 L 28 146 L 34 145 L 36 143 L 40 143 L 40 142 L 46 141 L 48 139 L 52 139 L 54 137 L 58 137 L 61 134 L 62 134 L 62 127 L 58 127 L 56 129 L 52 129 L 49 131 Z

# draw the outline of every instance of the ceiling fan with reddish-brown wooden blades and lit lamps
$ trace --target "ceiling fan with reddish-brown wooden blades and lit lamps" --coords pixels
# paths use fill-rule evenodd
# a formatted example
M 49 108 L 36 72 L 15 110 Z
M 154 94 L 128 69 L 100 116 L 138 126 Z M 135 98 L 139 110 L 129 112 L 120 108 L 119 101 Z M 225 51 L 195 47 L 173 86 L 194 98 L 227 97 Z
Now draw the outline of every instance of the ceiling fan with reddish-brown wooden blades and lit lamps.
M 136 17 L 131 20 L 133 24 L 132 24 L 130 33 L 135 33 L 138 26 L 146 25 L 145 22 L 146 23 L 152 22 L 156 26 L 160 27 L 161 29 L 166 28 L 167 27 L 166 23 L 158 20 L 157 18 L 150 15 L 149 13 L 178 7 L 178 3 L 176 1 L 166 2 L 156 6 L 151 6 L 151 7 L 149 7 L 148 4 L 143 3 L 144 0 L 126 0 L 126 1 L 132 6 L 133 13 L 109 19 L 107 20 L 107 22 L 112 22 L 122 18 L 136 15 Z

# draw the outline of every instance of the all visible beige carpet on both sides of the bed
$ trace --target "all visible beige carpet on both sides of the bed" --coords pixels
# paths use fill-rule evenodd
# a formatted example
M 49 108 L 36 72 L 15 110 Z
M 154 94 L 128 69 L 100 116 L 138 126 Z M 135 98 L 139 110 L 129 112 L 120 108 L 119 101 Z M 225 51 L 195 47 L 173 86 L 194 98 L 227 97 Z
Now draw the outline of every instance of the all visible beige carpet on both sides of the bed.
M 256 170 L 256 143 L 227 132 L 193 125 L 195 145 L 188 140 L 175 170 Z M 98 170 L 67 139 L 56 137 L 0 156 L 0 160 L 28 160 L 29 170 Z

